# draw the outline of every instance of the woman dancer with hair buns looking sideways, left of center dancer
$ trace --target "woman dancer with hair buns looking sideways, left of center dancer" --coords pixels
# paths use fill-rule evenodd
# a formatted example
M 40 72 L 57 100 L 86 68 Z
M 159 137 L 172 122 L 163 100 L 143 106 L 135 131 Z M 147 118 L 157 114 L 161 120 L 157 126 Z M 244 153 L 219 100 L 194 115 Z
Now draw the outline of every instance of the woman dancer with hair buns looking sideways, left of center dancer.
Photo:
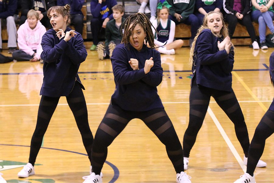
M 85 61 L 87 52 L 81 34 L 67 27 L 69 24 L 69 5 L 53 6 L 47 16 L 52 29 L 42 37 L 41 59 L 44 60 L 44 79 L 40 91 L 37 124 L 30 143 L 29 163 L 18 173 L 26 178 L 34 174 L 34 163 L 40 150 L 43 136 L 61 96 L 65 96 L 72 110 L 77 127 L 91 162 L 93 135 L 88 123 L 85 89 L 78 76 L 78 69 Z M 90 170 L 91 170 L 90 166 Z

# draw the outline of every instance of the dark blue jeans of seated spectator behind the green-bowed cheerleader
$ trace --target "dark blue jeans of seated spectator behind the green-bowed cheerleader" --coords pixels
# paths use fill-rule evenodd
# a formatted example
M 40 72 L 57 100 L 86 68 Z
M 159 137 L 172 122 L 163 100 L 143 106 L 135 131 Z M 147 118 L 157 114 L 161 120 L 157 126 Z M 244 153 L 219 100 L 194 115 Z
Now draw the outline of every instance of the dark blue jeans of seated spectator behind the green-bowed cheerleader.
M 168 18 L 170 20 L 173 20 L 176 25 L 180 24 L 180 23 L 185 23 L 187 25 L 190 25 L 191 26 L 191 39 L 194 39 L 194 37 L 197 34 L 197 30 L 199 28 L 199 20 L 198 20 L 197 16 L 195 16 L 194 14 L 190 14 L 187 19 L 185 19 L 184 21 L 180 21 L 180 22 L 177 21 L 175 16 L 169 15 Z

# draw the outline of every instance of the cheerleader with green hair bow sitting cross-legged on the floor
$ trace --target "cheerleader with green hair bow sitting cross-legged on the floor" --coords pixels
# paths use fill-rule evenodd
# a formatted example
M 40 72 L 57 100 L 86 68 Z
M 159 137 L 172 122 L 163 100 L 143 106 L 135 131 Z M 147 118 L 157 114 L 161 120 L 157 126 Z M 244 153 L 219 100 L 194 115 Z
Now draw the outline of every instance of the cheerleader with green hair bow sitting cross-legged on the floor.
M 162 54 L 174 55 L 174 49 L 181 48 L 184 41 L 181 39 L 174 41 L 175 23 L 168 18 L 168 9 L 170 6 L 171 5 L 169 5 L 166 0 L 163 1 L 163 3 L 162 0 L 158 3 L 157 19 L 152 23 L 153 27 L 156 28 L 157 33 L 153 28 L 152 32 L 154 34 L 154 44 L 156 50 Z M 165 45 L 165 43 L 167 44 Z

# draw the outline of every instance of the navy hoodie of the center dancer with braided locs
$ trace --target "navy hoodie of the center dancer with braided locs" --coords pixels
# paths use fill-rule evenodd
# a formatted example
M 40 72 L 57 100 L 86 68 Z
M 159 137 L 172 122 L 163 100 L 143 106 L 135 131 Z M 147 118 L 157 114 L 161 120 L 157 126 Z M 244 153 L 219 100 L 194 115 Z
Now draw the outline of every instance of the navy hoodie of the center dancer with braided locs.
M 154 65 L 145 74 L 144 66 L 147 59 L 153 57 Z M 133 58 L 139 61 L 139 69 L 133 70 L 128 61 Z M 157 86 L 162 82 L 163 68 L 160 53 L 143 45 L 137 51 L 132 45 L 117 45 L 111 56 L 115 81 L 115 91 L 111 96 L 111 104 L 130 111 L 148 111 L 163 108 L 157 94 Z

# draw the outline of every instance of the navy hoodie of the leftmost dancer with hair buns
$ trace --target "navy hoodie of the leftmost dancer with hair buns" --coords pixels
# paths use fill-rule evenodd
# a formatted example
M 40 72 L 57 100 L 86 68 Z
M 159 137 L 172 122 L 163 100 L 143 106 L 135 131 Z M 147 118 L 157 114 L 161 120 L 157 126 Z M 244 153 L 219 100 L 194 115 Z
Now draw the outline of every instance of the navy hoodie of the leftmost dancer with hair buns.
M 66 31 L 72 30 L 67 27 Z M 75 37 L 64 41 L 59 40 L 56 31 L 48 30 L 42 37 L 41 59 L 44 60 L 44 79 L 40 95 L 49 97 L 68 96 L 78 76 L 80 63 L 86 60 L 87 52 L 81 34 L 76 32 Z M 82 88 L 85 89 L 82 85 Z

